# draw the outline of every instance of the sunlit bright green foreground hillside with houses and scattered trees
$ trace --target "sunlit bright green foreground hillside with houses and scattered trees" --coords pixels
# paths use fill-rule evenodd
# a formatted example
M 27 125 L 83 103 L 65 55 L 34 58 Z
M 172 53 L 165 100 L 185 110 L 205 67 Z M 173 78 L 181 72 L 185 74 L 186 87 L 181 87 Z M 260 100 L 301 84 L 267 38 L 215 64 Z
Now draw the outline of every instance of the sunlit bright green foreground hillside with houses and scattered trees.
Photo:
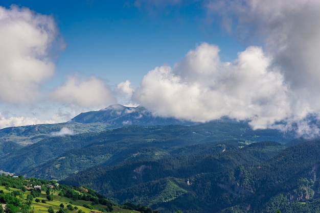
M 119 205 L 86 187 L 71 187 L 55 181 L 0 176 L 0 212 L 89 213 L 157 212 L 146 206 Z M 132 208 L 133 207 L 133 208 Z

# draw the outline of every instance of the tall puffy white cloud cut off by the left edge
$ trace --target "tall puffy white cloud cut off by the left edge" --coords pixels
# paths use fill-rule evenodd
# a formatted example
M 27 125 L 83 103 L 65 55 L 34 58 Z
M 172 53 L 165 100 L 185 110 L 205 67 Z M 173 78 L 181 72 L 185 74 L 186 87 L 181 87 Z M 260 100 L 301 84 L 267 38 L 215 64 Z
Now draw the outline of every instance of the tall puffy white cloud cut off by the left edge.
M 0 102 L 27 103 L 54 73 L 49 50 L 58 30 L 51 16 L 0 6 Z

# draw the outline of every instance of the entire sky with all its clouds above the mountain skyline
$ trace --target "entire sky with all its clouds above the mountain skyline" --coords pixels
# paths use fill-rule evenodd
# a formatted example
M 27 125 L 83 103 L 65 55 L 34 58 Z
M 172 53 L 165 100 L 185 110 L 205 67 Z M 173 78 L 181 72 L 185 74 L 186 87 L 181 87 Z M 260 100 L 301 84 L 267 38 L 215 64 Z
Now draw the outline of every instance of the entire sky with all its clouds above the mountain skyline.
M 316 0 L 0 0 L 0 128 L 119 103 L 313 137 L 318 50 Z

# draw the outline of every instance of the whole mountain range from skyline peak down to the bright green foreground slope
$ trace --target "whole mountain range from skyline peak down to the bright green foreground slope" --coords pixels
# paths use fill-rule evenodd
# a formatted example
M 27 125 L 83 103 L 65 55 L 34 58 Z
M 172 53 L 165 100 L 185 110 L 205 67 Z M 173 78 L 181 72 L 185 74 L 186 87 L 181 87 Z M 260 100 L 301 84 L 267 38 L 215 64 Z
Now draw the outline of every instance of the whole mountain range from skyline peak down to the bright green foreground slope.
M 320 204 L 318 144 L 246 122 L 111 105 L 66 123 L 0 130 L 0 170 L 165 213 L 317 212 L 306 207 Z

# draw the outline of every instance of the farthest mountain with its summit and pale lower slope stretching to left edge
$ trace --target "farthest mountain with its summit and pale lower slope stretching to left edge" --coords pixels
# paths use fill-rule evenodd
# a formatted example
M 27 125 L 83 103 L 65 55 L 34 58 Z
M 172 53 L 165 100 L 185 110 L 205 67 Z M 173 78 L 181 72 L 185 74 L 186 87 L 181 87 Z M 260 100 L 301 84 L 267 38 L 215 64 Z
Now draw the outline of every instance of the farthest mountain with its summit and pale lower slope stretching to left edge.
M 110 105 L 99 111 L 83 112 L 68 122 L 60 124 L 38 124 L 21 127 L 8 127 L 0 129 L 0 156 L 9 151 L 1 151 L 2 144 L 13 142 L 18 145 L 28 146 L 38 141 L 60 134 L 62 129 L 79 134 L 85 132 L 101 132 L 106 129 L 113 129 L 124 126 L 165 126 L 165 125 L 193 125 L 194 122 L 174 119 L 173 117 L 159 117 L 152 115 L 144 107 L 125 107 L 120 104 Z M 12 149 L 19 149 L 16 146 Z

